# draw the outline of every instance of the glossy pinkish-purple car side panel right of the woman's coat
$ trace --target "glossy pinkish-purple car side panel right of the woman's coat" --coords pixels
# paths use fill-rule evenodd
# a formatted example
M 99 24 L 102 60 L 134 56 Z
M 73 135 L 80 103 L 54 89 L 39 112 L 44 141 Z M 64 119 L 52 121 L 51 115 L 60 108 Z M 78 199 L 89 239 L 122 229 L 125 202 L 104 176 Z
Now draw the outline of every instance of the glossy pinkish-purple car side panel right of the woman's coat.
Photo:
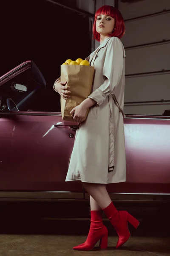
M 124 119 L 126 182 L 110 184 L 112 199 L 170 201 L 170 117 Z

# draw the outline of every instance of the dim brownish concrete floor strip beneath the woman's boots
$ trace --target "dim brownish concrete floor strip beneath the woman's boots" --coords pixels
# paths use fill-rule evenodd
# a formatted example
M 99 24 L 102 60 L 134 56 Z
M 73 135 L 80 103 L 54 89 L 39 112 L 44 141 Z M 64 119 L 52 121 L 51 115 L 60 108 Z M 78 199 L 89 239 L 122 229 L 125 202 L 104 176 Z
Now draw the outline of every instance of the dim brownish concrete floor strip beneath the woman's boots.
M 170 238 L 131 237 L 116 250 L 116 236 L 109 236 L 108 250 L 74 251 L 72 247 L 85 241 L 85 236 L 0 235 L 0 256 L 169 256 Z

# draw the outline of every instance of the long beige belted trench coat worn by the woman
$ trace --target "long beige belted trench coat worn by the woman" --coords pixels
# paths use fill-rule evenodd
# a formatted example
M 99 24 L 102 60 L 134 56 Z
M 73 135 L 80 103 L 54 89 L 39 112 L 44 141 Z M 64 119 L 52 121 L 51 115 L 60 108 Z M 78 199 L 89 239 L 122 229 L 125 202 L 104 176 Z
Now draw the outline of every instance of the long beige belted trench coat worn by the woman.
M 124 182 L 125 50 L 119 38 L 109 37 L 86 59 L 95 68 L 89 98 L 97 104 L 77 130 L 65 181 Z

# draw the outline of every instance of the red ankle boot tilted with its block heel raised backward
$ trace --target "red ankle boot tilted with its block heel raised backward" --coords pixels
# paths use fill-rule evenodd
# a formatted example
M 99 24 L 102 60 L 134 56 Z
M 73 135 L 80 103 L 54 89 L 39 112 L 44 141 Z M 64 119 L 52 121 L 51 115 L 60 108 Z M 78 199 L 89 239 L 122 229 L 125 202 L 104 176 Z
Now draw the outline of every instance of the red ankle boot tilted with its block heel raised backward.
M 114 204 L 111 202 L 108 207 L 103 209 L 108 219 L 111 221 L 111 224 L 115 228 L 119 240 L 116 244 L 116 249 L 125 244 L 125 242 L 130 238 L 130 232 L 128 228 L 128 221 L 133 227 L 137 228 L 140 224 L 136 218 L 130 215 L 126 211 L 118 211 L 114 207 Z

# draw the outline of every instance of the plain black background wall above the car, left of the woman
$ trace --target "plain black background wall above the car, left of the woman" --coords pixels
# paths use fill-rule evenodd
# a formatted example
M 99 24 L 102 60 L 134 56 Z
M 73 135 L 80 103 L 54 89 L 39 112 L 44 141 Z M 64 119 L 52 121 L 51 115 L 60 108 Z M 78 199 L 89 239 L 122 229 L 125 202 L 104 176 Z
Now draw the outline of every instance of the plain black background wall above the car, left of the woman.
M 2 1 L 0 9 L 0 76 L 34 61 L 47 82 L 45 110 L 59 111 L 59 95 L 52 86 L 66 59 L 91 53 L 88 18 L 45 0 Z

